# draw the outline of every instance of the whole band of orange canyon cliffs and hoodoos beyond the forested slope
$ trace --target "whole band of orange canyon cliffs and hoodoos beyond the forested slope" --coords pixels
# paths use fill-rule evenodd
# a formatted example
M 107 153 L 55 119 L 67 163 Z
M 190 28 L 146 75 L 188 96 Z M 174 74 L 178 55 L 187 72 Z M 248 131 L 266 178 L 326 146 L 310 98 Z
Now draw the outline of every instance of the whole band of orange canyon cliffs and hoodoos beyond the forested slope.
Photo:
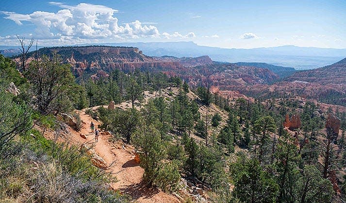
M 35 51 L 28 54 L 34 59 Z M 191 87 L 212 86 L 229 96 L 253 98 L 303 97 L 321 102 L 346 105 L 346 59 L 330 66 L 296 71 L 294 68 L 265 63 L 221 63 L 209 56 L 147 56 L 135 47 L 85 46 L 41 48 L 38 55 L 61 55 L 79 78 L 107 77 L 112 70 L 163 72 L 177 76 Z M 19 57 L 15 57 L 19 65 Z M 261 68 L 263 67 L 263 68 Z

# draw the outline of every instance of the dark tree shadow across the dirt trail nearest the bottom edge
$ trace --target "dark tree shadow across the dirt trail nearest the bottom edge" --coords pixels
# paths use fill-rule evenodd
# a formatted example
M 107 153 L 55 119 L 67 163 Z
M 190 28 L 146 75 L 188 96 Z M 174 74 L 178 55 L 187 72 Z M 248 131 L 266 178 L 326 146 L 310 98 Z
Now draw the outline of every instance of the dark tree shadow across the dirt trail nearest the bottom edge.
M 148 187 L 143 181 L 120 188 L 120 191 L 129 194 L 134 200 L 140 197 L 148 199 L 160 192 L 157 188 Z

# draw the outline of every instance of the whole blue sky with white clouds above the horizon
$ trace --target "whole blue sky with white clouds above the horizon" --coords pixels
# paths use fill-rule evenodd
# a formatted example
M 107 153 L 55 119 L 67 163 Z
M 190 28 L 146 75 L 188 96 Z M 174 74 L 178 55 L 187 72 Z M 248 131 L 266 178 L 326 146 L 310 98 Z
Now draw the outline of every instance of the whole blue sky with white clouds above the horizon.
M 346 48 L 346 0 L 1 0 L 0 45 L 193 41 Z

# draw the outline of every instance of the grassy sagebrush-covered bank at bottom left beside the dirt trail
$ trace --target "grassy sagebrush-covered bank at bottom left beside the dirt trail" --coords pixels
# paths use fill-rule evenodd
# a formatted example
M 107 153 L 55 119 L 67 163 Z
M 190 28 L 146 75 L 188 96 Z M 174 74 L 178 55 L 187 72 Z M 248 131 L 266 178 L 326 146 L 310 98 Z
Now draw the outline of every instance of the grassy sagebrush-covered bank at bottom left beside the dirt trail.
M 13 141 L 10 150 L 10 155 L 0 151 L 0 202 L 127 202 L 106 185 L 111 180 L 107 173 L 77 147 L 57 144 L 31 130 Z

